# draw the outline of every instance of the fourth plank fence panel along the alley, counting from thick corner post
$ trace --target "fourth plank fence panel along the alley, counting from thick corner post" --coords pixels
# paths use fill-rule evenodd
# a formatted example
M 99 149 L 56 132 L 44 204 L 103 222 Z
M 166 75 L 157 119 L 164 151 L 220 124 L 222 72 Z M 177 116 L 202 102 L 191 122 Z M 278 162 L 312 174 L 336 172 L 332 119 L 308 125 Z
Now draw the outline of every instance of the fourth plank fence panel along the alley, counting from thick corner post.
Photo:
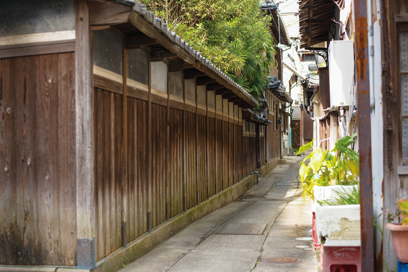
M 170 108 L 170 217 L 183 212 L 183 111 Z

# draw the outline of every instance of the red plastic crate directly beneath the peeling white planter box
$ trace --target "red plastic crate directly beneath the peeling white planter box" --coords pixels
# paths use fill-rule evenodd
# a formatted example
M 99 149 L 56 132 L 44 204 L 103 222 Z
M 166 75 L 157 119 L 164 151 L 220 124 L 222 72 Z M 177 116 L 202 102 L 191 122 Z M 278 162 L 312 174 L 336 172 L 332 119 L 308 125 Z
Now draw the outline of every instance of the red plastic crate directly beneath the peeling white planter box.
M 359 246 L 322 246 L 323 272 L 361 272 Z

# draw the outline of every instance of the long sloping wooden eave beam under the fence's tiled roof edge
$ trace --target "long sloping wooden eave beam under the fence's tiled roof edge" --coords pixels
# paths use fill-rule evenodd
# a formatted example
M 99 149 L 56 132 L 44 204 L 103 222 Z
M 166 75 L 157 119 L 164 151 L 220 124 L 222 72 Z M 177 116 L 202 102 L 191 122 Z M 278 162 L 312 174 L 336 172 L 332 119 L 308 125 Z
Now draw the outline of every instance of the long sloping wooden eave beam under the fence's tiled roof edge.
M 168 49 L 169 51 L 176 53 L 177 56 L 184 60 L 188 64 L 193 64 L 193 67 L 197 70 L 204 72 L 209 77 L 216 79 L 216 81 L 226 88 L 232 90 L 235 94 L 238 94 L 239 97 L 244 99 L 247 103 L 249 103 L 252 107 L 255 107 L 256 104 L 252 101 L 249 97 L 247 97 L 244 93 L 242 93 L 239 89 L 229 83 L 226 79 L 220 77 L 216 72 L 202 64 L 200 61 L 196 61 L 196 59 L 188 54 L 183 48 L 175 44 L 171 41 L 167 36 L 159 33 L 157 29 L 152 25 L 149 24 L 144 18 L 141 17 L 138 13 L 132 11 L 129 15 L 128 22 L 135 26 L 137 29 L 142 31 L 145 35 L 149 36 L 152 39 L 157 40 L 157 44 L 160 44 L 164 48 Z

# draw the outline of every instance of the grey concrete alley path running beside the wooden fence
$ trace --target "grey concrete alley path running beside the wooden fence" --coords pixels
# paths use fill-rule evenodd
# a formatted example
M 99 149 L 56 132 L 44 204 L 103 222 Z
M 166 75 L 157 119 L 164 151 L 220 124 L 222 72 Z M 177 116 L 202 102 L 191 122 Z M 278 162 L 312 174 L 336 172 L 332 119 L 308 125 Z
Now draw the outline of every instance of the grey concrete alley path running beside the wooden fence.
M 287 157 L 240 198 L 295 198 L 300 157 Z M 295 182 L 296 185 L 277 185 Z M 299 181 L 300 182 L 300 181 Z M 228 223 L 267 224 L 262 235 L 218 234 Z M 311 240 L 312 215 L 302 201 L 235 201 L 197 220 L 123 272 L 317 272 L 319 252 Z M 265 263 L 272 257 L 299 263 Z M 278 259 L 280 261 L 289 259 Z M 293 261 L 293 259 L 290 259 Z

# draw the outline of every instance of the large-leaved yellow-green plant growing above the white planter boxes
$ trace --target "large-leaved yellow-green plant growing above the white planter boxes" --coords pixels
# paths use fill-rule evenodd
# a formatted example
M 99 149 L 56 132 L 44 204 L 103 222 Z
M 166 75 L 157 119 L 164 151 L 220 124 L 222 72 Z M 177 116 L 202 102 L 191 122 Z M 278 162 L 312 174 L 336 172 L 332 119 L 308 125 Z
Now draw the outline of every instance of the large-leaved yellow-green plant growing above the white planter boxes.
M 313 186 L 354 185 L 358 183 L 359 156 L 349 146 L 357 140 L 357 134 L 340 138 L 330 154 L 313 147 L 312 142 L 299 147 L 302 153 L 313 148 L 309 156 L 300 163 L 299 176 L 302 182 L 303 196 L 313 197 Z M 306 160 L 310 163 L 306 165 Z

